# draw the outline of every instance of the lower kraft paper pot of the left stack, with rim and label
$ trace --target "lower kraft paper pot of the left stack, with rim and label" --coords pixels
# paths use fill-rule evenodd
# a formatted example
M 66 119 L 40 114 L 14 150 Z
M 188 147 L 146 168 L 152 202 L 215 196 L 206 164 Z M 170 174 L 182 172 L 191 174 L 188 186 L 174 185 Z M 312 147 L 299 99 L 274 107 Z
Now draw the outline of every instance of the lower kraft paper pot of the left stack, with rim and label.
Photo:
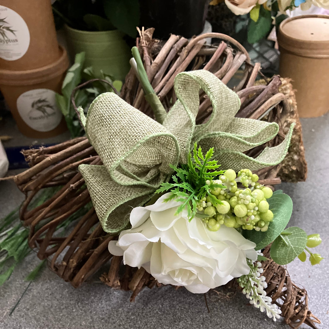
M 65 49 L 60 47 L 60 53 L 57 61 L 37 69 L 0 69 L 1 92 L 18 129 L 27 137 L 48 138 L 67 129 L 55 99 L 69 64 Z

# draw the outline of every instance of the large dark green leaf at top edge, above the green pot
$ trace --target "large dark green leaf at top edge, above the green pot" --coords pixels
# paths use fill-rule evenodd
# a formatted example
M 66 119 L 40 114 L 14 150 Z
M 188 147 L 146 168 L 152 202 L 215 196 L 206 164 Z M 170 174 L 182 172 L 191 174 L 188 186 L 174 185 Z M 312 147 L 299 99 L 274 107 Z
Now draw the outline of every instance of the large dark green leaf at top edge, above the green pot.
M 106 17 L 120 31 L 135 38 L 139 25 L 138 0 L 104 0 Z

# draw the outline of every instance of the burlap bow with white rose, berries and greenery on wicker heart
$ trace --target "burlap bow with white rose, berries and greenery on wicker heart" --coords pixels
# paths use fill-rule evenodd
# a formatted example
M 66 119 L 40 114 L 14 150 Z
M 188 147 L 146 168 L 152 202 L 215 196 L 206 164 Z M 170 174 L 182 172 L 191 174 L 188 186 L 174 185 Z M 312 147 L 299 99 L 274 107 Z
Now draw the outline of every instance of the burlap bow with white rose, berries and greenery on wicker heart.
M 139 76 L 142 71 L 139 66 Z M 208 71 L 180 73 L 174 87 L 178 100 L 167 114 L 152 106 L 162 124 L 114 93 L 98 96 L 87 118 L 79 108 L 81 123 L 103 162 L 81 164 L 79 170 L 104 231 L 120 232 L 117 241 L 109 242 L 109 251 L 123 256 L 125 265 L 143 267 L 159 283 L 194 293 L 238 278 L 250 304 L 275 321 L 281 311 L 264 290 L 266 278 L 257 262 L 266 259 L 261 250 L 272 243 L 271 258 L 285 265 L 296 257 L 305 261 L 305 249 L 315 265 L 322 258 L 307 245 L 315 247 L 321 239 L 298 227 L 285 230 L 290 197 L 273 194 L 251 170 L 238 168 L 281 162 L 293 125 L 281 144 L 253 159 L 242 152 L 273 138 L 276 124 L 234 119 L 239 97 Z M 196 126 L 200 88 L 211 99 L 213 113 L 207 123 Z M 130 124 L 123 128 L 127 119 Z M 204 154 L 197 145 L 212 147 Z M 214 158 L 226 170 L 218 170 Z M 144 206 L 154 191 L 158 200 Z

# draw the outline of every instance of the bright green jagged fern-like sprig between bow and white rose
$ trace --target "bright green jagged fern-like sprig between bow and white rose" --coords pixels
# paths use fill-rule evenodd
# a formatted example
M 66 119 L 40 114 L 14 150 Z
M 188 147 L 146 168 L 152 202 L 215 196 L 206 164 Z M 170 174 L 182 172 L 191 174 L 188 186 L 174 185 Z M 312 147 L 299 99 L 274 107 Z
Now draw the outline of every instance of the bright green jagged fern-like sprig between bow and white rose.
M 222 204 L 222 201 L 210 192 L 216 188 L 224 188 L 223 185 L 213 181 L 216 176 L 224 173 L 224 170 L 217 171 L 220 164 L 217 164 L 217 160 L 211 160 L 213 155 L 213 147 L 204 156 L 201 147 L 197 148 L 197 144 L 194 143 L 193 157 L 190 153 L 187 164 L 181 164 L 179 168 L 170 165 L 176 172 L 172 175 L 173 182 L 162 183 L 156 193 L 170 190 L 171 194 L 165 202 L 174 198 L 177 202 L 182 202 L 175 215 L 180 214 L 187 207 L 189 221 L 191 221 L 197 214 L 197 202 L 206 195 L 209 196 L 212 204 Z

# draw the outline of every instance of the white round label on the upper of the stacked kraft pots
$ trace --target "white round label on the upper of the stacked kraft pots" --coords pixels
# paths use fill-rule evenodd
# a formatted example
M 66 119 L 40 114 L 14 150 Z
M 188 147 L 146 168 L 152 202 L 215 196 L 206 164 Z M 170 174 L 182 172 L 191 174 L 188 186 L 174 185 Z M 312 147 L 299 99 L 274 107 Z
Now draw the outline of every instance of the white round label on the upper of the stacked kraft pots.
M 15 61 L 25 55 L 30 32 L 24 19 L 12 9 L 0 6 L 0 58 Z

